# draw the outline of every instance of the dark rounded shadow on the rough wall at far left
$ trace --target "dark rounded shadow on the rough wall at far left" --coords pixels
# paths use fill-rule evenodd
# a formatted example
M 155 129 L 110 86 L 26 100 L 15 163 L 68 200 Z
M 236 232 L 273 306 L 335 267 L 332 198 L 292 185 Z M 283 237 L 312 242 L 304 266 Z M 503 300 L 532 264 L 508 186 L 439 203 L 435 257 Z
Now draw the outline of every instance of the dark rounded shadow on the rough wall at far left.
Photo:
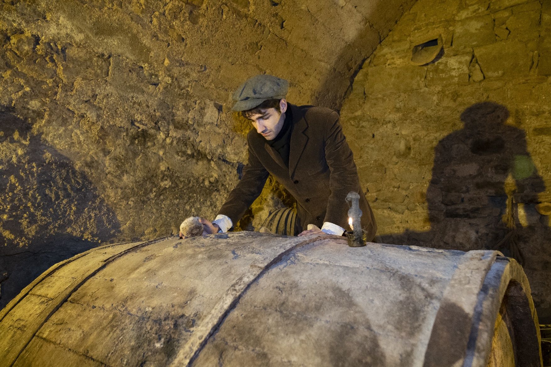
M 0 309 L 50 266 L 119 228 L 72 161 L 0 106 Z

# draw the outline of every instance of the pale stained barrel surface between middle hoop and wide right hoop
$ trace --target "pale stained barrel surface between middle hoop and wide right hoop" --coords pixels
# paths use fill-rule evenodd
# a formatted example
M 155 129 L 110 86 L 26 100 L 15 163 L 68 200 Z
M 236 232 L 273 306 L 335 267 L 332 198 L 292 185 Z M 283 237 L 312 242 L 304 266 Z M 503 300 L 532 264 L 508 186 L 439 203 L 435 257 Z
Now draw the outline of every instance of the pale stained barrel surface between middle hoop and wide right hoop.
M 426 257 L 445 255 L 334 239 L 301 247 L 251 285 L 193 366 L 419 365 L 457 261 L 430 269 Z

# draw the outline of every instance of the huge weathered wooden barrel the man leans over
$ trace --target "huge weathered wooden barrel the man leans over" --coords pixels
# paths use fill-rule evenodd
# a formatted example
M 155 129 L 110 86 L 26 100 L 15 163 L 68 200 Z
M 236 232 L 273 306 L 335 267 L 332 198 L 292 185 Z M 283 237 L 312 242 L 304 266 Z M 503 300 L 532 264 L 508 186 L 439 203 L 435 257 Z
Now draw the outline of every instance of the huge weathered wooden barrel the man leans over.
M 496 251 L 217 234 L 99 247 L 0 312 L 1 366 L 541 366 Z

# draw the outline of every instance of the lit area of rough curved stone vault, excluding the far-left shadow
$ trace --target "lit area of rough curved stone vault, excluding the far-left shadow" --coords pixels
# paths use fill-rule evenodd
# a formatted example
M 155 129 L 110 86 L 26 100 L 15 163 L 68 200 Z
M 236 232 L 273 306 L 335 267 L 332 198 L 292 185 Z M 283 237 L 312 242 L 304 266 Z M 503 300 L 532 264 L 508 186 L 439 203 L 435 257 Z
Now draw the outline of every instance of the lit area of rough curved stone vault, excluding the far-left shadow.
M 237 85 L 273 73 L 291 101 L 338 108 L 411 3 L 4 2 L 0 104 L 83 170 L 127 236 L 154 236 L 186 210 L 212 214 L 235 184 Z M 197 195 L 204 185 L 220 195 Z

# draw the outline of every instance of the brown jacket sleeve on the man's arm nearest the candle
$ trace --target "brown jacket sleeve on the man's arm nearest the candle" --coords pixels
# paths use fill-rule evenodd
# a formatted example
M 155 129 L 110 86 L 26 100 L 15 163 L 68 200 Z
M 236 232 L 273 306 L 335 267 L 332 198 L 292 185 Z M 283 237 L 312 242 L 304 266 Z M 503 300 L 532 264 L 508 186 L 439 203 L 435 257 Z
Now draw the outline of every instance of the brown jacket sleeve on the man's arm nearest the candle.
M 331 195 L 327 203 L 324 222 L 331 222 L 346 228 L 348 225 L 348 206 L 345 198 L 350 191 L 363 195 L 358 179 L 358 170 L 354 163 L 352 150 L 346 142 L 339 123 L 339 115 L 332 112 L 328 128 L 324 134 L 325 159 L 329 166 L 329 189 Z M 363 216 L 370 213 L 363 213 Z M 364 219 L 362 217 L 362 219 Z M 363 222 L 363 221 L 362 221 Z

